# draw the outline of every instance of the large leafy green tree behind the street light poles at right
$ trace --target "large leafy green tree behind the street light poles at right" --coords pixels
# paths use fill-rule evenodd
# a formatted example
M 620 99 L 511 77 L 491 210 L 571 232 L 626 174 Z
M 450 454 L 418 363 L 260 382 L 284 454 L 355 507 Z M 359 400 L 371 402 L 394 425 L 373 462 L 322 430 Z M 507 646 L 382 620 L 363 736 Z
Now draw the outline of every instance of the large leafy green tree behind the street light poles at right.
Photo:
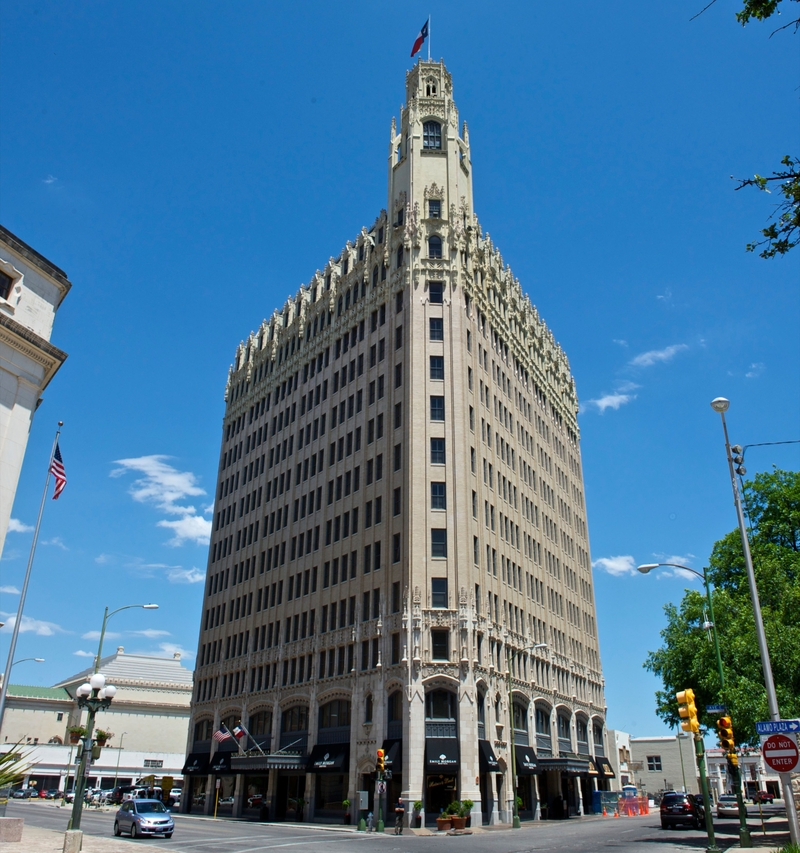
M 758 474 L 746 484 L 745 497 L 778 704 L 782 716 L 796 717 L 800 716 L 800 473 Z M 737 741 L 755 744 L 755 724 L 769 719 L 769 709 L 738 530 L 714 545 L 707 572 L 714 587 L 725 696 L 720 693 L 714 647 L 702 627 L 705 595 L 687 590 L 680 605 L 665 606 L 663 645 L 650 652 L 644 663 L 664 684 L 663 690 L 656 691 L 656 713 L 677 726 L 675 693 L 691 687 L 701 723 L 715 725 L 715 716 L 705 714 L 705 706 L 724 699 Z

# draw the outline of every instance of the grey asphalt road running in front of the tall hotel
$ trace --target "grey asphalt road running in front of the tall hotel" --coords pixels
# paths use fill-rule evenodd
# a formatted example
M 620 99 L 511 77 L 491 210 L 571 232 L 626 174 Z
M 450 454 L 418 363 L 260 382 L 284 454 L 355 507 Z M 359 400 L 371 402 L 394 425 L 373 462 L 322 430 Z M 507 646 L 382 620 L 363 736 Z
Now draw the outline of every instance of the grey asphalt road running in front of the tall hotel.
M 760 833 L 758 810 L 750 809 L 750 825 L 756 844 L 771 849 L 777 846 L 775 830 L 785 826 L 785 819 L 772 817 L 770 835 Z M 777 808 L 770 809 L 775 815 Z M 782 809 L 780 810 L 782 811 Z M 24 816 L 26 822 L 48 829 L 63 830 L 69 820 L 67 809 L 49 803 L 14 803 L 8 805 L 9 817 Z M 174 849 L 176 853 L 266 853 L 283 848 L 314 848 L 320 853 L 443 853 L 458 850 L 463 853 L 528 853 L 528 851 L 558 851 L 558 853 L 595 853 L 619 851 L 625 853 L 686 853 L 703 851 L 705 833 L 691 829 L 665 831 L 661 829 L 658 812 L 634 818 L 586 818 L 568 821 L 541 821 L 523 824 L 521 830 L 479 831 L 464 836 L 395 836 L 391 830 L 383 835 L 352 832 L 349 828 L 308 829 L 281 824 L 259 824 L 231 820 L 211 820 L 193 815 L 175 815 L 175 835 L 172 839 L 153 838 L 131 841 L 139 847 Z M 112 837 L 114 813 L 87 810 L 81 828 L 96 836 Z M 716 820 L 717 839 L 725 850 L 738 847 L 735 819 Z M 757 832 L 757 830 L 759 830 Z M 287 850 L 287 853 L 290 853 Z

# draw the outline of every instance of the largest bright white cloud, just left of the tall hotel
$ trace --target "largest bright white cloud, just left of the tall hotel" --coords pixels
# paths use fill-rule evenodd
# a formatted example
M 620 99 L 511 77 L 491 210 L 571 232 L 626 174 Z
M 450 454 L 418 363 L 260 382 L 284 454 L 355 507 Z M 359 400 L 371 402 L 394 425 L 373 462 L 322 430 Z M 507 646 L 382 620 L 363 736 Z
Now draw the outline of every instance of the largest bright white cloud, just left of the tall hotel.
M 197 477 L 191 471 L 179 471 L 164 461 L 170 458 L 156 454 L 117 459 L 116 464 L 122 467 L 115 468 L 110 476 L 122 477 L 129 471 L 142 474 L 131 485 L 131 497 L 139 503 L 153 504 L 162 512 L 179 517 L 176 521 L 157 522 L 158 527 L 171 529 L 174 534 L 168 545 L 183 545 L 185 542 L 207 545 L 211 539 L 211 522 L 198 514 L 194 506 L 178 503 L 188 497 L 204 495 L 206 491 L 197 485 Z M 206 512 L 207 508 L 201 510 L 201 513 Z

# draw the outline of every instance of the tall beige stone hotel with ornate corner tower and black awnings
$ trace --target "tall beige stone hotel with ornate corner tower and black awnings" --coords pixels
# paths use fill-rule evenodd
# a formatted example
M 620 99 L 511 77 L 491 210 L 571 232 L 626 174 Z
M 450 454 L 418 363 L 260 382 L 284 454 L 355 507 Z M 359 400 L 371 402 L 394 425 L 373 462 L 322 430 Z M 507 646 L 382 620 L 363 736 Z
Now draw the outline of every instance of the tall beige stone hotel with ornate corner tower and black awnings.
M 388 212 L 239 346 L 226 399 L 184 808 L 217 776 L 234 814 L 367 790 L 377 818 L 384 748 L 390 808 L 508 820 L 513 737 L 523 819 L 588 811 L 613 771 L 575 383 L 478 224 L 442 63 L 407 74 Z

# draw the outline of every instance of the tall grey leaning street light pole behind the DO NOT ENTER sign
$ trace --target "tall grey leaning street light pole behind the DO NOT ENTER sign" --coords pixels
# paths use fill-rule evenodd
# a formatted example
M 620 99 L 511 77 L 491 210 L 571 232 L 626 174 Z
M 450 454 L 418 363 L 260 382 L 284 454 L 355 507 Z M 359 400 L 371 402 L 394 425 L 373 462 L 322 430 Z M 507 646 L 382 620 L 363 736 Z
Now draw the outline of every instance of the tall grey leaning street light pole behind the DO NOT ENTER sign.
M 744 521 L 744 511 L 742 509 L 742 498 L 739 494 L 739 487 L 736 484 L 736 474 L 745 473 L 743 467 L 737 472 L 734 469 L 733 453 L 731 452 L 731 444 L 728 440 L 728 424 L 725 422 L 725 412 L 728 411 L 730 401 L 725 397 L 717 397 L 711 401 L 711 408 L 722 418 L 722 431 L 725 436 L 725 456 L 728 460 L 728 472 L 731 478 L 731 489 L 733 490 L 733 503 L 736 507 L 736 519 L 739 523 L 739 535 L 742 539 L 742 552 L 744 553 L 744 563 L 747 569 L 747 582 L 750 586 L 750 600 L 753 603 L 753 618 L 756 625 L 756 638 L 758 640 L 758 651 L 761 655 L 761 669 L 764 673 L 764 687 L 767 691 L 767 703 L 769 705 L 770 717 L 775 720 L 780 720 L 781 712 L 778 707 L 778 695 L 775 692 L 775 681 L 772 677 L 772 663 L 769 657 L 769 646 L 767 645 L 767 635 L 764 632 L 764 619 L 761 616 L 761 602 L 758 598 L 758 587 L 756 586 L 756 573 L 753 569 L 753 557 L 750 553 L 750 540 L 747 538 L 747 527 Z M 739 448 L 737 446 L 737 466 L 741 466 L 738 461 Z M 742 460 L 743 461 L 743 460 Z M 800 822 L 797 818 L 797 809 L 794 805 L 794 794 L 792 792 L 792 779 L 789 773 L 778 774 L 781 778 L 781 787 L 783 788 L 783 801 L 786 803 L 786 818 L 789 823 L 789 836 L 794 844 L 800 844 Z

